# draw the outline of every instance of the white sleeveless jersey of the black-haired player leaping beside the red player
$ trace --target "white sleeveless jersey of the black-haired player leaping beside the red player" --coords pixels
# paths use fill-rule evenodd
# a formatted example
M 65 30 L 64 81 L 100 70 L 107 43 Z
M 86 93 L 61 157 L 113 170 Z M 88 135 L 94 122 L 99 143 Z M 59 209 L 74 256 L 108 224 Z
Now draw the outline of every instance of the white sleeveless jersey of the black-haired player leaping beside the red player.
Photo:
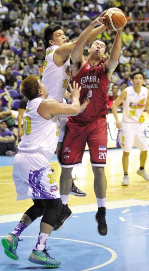
M 53 56 L 57 48 L 59 46 L 53 45 L 46 50 L 42 83 L 49 93 L 48 98 L 62 103 L 64 94 L 70 83 L 71 69 L 70 58 L 61 67 L 55 64 Z

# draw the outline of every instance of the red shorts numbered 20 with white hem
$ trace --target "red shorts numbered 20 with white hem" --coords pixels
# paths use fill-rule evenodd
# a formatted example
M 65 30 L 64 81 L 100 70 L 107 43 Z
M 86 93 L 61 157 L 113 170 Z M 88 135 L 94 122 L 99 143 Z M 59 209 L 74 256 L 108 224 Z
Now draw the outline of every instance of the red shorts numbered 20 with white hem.
M 62 148 L 59 150 L 59 163 L 62 167 L 74 167 L 81 164 L 82 156 L 88 144 L 92 166 L 105 166 L 107 153 L 107 122 L 99 118 L 89 123 L 68 121 Z

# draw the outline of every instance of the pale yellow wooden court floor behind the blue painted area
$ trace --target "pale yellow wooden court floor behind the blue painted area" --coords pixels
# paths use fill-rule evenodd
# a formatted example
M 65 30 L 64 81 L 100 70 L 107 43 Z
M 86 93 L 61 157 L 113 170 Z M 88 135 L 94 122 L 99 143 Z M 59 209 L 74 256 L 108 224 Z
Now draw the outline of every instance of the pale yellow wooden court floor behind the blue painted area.
M 149 182 L 137 175 L 136 171 L 140 166 L 140 151 L 134 148 L 130 153 L 129 176 L 130 185 L 124 187 L 121 185 L 123 179 L 122 168 L 122 149 L 108 149 L 107 166 L 105 173 L 107 177 L 107 201 L 117 201 L 125 199 L 149 200 Z M 54 177 L 59 185 L 61 167 L 58 162 L 51 162 L 54 168 Z M 149 155 L 146 163 L 146 171 L 149 173 Z M 75 197 L 70 195 L 69 205 L 84 205 L 96 203 L 93 190 L 93 173 L 89 160 L 89 152 L 85 151 L 81 166 L 73 170 L 73 176 L 78 177 L 75 185 L 87 193 L 86 197 Z M 12 181 L 12 166 L 0 167 L 0 215 L 14 214 L 24 212 L 32 204 L 32 201 L 16 201 L 15 187 Z

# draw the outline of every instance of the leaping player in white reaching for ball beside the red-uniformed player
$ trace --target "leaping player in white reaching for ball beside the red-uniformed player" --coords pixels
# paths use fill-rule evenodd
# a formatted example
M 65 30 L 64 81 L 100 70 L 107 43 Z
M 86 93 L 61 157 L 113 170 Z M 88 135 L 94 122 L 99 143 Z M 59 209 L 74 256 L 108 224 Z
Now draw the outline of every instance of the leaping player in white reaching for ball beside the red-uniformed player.
M 96 19 L 98 24 L 101 24 L 100 20 L 103 19 L 104 13 Z M 99 27 L 93 29 L 87 43 L 92 42 L 100 33 L 106 29 L 105 25 L 100 25 Z M 49 93 L 48 98 L 57 100 L 60 103 L 66 102 L 64 97 L 68 100 L 71 100 L 71 95 L 67 91 L 71 78 L 71 69 L 70 69 L 70 56 L 74 48 L 74 42 L 67 42 L 63 27 L 61 25 L 49 25 L 45 29 L 44 39 L 47 43 L 48 48 L 46 49 L 46 57 L 44 63 L 44 71 L 42 77 L 42 83 L 46 86 L 46 89 Z M 82 112 L 86 105 L 87 100 L 84 101 L 84 104 L 81 105 Z M 64 137 L 65 125 L 67 118 L 60 118 L 60 137 L 57 146 L 57 152 L 60 149 Z M 78 189 L 72 184 L 71 194 L 75 196 L 86 196 L 86 193 Z

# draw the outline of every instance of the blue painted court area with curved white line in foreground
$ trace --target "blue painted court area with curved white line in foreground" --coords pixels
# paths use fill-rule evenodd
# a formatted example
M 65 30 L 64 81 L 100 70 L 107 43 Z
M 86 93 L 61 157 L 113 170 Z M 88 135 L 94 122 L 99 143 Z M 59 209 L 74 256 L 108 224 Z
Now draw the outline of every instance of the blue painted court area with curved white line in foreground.
M 108 203 L 107 236 L 100 236 L 96 231 L 96 212 L 86 210 L 75 213 L 66 221 L 62 230 L 53 232 L 47 247 L 52 249 L 49 251 L 51 257 L 62 261 L 61 267 L 56 270 L 149 271 L 149 205 L 142 200 L 133 200 L 133 204 L 131 203 L 131 200 Z M 118 208 L 123 205 L 125 207 Z M 22 214 L 17 216 L 21 218 Z M 17 248 L 19 260 L 13 261 L 5 256 L 1 238 L 16 226 L 17 221 L 11 222 L 12 217 L 13 215 L 1 216 L 0 271 L 50 269 L 27 260 L 37 242 L 40 219 L 33 222 L 20 236 L 23 241 L 19 242 Z

